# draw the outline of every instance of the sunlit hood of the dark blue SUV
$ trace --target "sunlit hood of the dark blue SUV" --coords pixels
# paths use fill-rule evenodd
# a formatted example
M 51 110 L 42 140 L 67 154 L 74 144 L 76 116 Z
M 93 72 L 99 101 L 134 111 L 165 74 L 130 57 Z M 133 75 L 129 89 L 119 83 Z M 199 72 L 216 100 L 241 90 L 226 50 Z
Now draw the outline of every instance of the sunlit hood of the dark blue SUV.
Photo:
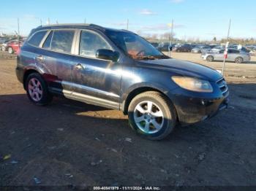
M 197 77 L 213 82 L 216 82 L 218 79 L 222 78 L 222 74 L 219 74 L 219 72 L 215 69 L 211 69 L 199 63 L 181 61 L 174 58 L 138 61 L 138 63 L 142 67 L 170 71 L 180 76 Z

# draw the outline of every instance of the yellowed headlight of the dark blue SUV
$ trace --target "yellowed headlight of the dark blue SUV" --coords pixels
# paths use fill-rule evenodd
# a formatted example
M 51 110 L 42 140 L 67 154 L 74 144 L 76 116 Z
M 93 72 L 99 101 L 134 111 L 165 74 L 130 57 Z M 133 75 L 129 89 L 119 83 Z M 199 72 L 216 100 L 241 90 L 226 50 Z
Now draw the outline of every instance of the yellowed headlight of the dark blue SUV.
M 186 90 L 195 92 L 213 92 L 210 82 L 192 77 L 172 77 L 173 82 Z

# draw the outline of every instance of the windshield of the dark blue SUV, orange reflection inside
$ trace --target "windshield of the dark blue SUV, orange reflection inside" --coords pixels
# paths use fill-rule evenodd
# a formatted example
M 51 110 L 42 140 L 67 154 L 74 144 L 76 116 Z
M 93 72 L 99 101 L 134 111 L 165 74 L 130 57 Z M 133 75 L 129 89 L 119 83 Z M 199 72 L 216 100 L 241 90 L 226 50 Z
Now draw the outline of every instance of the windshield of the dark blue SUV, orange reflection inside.
M 137 34 L 125 31 L 107 31 L 108 37 L 129 57 L 134 59 L 169 58 Z

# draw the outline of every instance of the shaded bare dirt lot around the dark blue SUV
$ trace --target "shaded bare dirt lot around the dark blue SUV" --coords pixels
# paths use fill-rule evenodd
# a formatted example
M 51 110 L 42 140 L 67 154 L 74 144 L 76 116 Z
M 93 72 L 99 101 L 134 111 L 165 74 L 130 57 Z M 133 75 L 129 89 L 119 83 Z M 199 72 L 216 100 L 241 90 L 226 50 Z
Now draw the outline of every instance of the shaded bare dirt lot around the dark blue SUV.
M 172 56 L 222 66 L 198 54 Z M 0 185 L 37 185 L 37 178 L 39 185 L 82 187 L 256 186 L 255 63 L 227 63 L 233 109 L 147 141 L 118 111 L 64 98 L 34 106 L 15 77 L 15 60 L 0 58 Z

